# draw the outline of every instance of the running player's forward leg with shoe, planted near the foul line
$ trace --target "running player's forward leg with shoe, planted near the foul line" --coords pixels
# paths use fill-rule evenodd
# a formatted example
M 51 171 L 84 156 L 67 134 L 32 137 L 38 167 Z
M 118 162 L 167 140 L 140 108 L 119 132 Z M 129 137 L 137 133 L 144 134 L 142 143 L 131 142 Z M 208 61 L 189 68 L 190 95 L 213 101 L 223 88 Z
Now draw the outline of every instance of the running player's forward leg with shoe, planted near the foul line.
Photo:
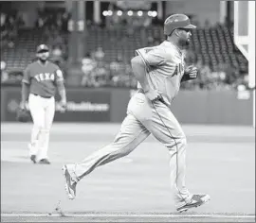
M 171 187 L 177 211 L 187 211 L 210 199 L 208 195 L 192 195 L 185 184 L 186 177 L 186 136 L 173 112 L 161 102 L 151 103 L 152 121 L 149 128 L 170 153 Z M 145 124 L 147 127 L 147 125 Z

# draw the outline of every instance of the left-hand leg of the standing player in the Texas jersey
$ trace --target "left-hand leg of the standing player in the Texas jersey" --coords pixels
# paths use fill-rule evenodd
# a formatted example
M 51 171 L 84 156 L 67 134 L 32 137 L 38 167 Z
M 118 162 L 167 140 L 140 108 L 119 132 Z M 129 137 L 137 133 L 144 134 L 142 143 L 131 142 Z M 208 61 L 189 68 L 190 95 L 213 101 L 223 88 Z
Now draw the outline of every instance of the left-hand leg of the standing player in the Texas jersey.
M 41 130 L 44 127 L 44 105 L 42 104 L 41 98 L 34 94 L 28 96 L 28 107 L 31 113 L 33 127 L 31 130 L 31 139 L 28 145 L 29 155 L 31 160 L 35 163 L 35 159 L 38 153 L 38 139 Z

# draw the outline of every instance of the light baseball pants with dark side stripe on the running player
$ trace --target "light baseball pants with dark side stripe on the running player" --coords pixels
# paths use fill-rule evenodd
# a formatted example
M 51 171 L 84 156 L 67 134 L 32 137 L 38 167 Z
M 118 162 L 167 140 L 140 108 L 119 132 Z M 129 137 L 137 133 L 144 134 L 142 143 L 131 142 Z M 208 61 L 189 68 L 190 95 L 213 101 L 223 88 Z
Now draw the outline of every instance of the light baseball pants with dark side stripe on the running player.
M 171 188 L 176 207 L 188 203 L 192 195 L 185 186 L 185 134 L 167 106 L 159 101 L 152 103 L 144 94 L 137 93 L 131 98 L 127 116 L 113 143 L 94 152 L 81 163 L 67 165 L 67 168 L 74 180 L 82 180 L 96 167 L 128 155 L 151 133 L 169 150 Z

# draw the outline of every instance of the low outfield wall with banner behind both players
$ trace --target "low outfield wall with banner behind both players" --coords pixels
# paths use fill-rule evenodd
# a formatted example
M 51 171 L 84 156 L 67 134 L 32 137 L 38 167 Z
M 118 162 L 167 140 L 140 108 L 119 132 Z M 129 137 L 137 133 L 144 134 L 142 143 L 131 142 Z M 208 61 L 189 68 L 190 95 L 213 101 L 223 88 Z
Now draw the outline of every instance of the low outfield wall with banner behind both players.
M 121 122 L 134 90 L 67 89 L 67 111 L 56 122 Z M 57 97 L 58 98 L 58 97 Z M 1 122 L 15 121 L 21 99 L 18 87 L 1 87 Z M 252 94 L 235 91 L 180 91 L 172 111 L 183 124 L 252 125 Z

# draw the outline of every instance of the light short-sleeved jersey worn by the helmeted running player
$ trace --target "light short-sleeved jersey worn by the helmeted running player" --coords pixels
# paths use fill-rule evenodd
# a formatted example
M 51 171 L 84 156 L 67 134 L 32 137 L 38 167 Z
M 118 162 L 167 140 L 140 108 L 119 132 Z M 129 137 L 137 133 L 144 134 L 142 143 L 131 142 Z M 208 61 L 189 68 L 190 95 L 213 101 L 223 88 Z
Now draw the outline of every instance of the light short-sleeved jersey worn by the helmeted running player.
M 184 75 L 184 56 L 173 43 L 163 42 L 154 47 L 137 49 L 147 65 L 147 78 L 150 86 L 161 94 L 170 106 L 179 91 L 180 80 Z M 141 88 L 140 84 L 137 84 Z

